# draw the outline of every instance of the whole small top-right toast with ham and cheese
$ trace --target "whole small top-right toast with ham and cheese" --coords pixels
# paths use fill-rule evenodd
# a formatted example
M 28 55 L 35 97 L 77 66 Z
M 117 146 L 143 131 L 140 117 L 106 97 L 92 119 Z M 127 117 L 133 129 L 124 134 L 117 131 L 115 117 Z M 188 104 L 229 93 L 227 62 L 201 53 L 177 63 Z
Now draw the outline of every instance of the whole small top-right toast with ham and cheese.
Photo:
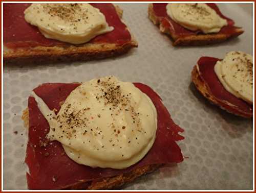
M 237 37 L 244 31 L 234 26 L 216 4 L 156 3 L 148 6 L 148 17 L 173 45 L 205 45 Z

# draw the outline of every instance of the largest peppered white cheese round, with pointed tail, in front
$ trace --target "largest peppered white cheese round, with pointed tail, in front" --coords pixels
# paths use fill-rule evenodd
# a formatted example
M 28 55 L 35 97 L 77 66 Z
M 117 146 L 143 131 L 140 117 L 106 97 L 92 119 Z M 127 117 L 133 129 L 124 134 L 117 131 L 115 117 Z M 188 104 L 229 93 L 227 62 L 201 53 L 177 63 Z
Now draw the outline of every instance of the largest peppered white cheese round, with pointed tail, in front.
M 156 138 L 157 112 L 133 83 L 110 76 L 74 89 L 57 115 L 34 92 L 46 117 L 50 140 L 67 155 L 91 167 L 125 168 L 141 160 Z

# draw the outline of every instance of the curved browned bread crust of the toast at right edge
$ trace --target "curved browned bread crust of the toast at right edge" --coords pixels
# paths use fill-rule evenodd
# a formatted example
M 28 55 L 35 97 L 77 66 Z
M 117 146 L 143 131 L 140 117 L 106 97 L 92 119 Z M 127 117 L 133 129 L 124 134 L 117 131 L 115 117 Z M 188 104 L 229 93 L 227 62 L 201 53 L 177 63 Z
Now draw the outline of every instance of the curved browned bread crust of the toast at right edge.
M 252 115 L 245 115 L 244 113 L 233 113 L 229 110 L 227 110 L 225 107 L 223 107 L 218 100 L 215 98 L 214 95 L 211 94 L 208 86 L 204 83 L 204 81 L 201 79 L 198 70 L 197 70 L 197 66 L 195 65 L 192 72 L 191 72 L 191 79 L 192 82 L 195 84 L 196 88 L 199 90 L 199 92 L 206 98 L 208 99 L 212 104 L 219 106 L 221 109 L 234 114 L 234 115 L 238 115 L 238 116 L 242 116 L 244 118 L 251 118 Z

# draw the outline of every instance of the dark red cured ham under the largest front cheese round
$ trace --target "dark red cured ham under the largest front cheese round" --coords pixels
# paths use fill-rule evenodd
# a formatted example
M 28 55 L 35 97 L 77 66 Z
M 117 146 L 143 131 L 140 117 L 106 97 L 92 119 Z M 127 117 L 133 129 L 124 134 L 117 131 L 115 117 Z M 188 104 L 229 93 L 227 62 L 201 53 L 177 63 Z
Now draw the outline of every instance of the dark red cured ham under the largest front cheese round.
M 158 129 L 155 143 L 146 156 L 138 163 L 125 170 L 112 168 L 92 168 L 71 160 L 58 141 L 47 142 L 46 134 L 49 124 L 37 107 L 34 98 L 29 97 L 29 141 L 27 145 L 26 163 L 30 174 L 27 174 L 29 189 L 62 189 L 72 184 L 93 179 L 116 176 L 129 172 L 147 164 L 181 162 L 183 156 L 176 140 L 184 137 L 178 134 L 184 130 L 177 126 L 163 106 L 160 97 L 150 87 L 134 83 L 142 92 L 146 93 L 158 113 Z M 60 109 L 59 103 L 65 101 L 69 93 L 79 84 L 43 84 L 35 88 L 35 93 L 45 101 L 50 109 Z

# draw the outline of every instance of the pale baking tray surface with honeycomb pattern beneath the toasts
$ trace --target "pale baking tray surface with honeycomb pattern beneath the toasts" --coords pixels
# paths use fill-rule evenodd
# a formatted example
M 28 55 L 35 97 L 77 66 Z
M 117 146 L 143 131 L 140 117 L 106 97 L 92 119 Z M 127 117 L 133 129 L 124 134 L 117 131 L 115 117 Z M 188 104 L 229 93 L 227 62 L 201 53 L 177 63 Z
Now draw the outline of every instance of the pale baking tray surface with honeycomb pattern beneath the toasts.
M 252 53 L 252 5 L 218 4 L 245 30 L 239 38 L 203 47 L 173 47 L 147 18 L 147 4 L 119 4 L 139 47 L 101 61 L 4 66 L 4 189 L 27 189 L 26 129 L 21 119 L 30 91 L 46 82 L 81 82 L 115 75 L 156 90 L 175 123 L 185 129 L 180 164 L 166 165 L 123 189 L 252 189 L 252 120 L 206 101 L 191 83 L 201 56 L 223 58 L 233 50 Z M 17 132 L 16 132 L 17 131 Z

